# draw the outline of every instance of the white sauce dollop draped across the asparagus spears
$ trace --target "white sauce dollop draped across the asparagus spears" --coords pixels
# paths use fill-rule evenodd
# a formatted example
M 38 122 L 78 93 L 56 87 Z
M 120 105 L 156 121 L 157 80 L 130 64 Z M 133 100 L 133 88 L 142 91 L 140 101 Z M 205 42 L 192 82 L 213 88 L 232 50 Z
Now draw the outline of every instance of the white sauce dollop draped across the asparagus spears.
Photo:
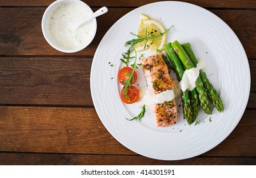
M 184 71 L 183 78 L 179 82 L 183 92 L 187 89 L 192 91 L 195 88 L 195 81 L 199 77 L 200 69 L 204 69 L 206 67 L 206 61 L 202 58 L 199 58 L 198 62 L 197 67 Z

